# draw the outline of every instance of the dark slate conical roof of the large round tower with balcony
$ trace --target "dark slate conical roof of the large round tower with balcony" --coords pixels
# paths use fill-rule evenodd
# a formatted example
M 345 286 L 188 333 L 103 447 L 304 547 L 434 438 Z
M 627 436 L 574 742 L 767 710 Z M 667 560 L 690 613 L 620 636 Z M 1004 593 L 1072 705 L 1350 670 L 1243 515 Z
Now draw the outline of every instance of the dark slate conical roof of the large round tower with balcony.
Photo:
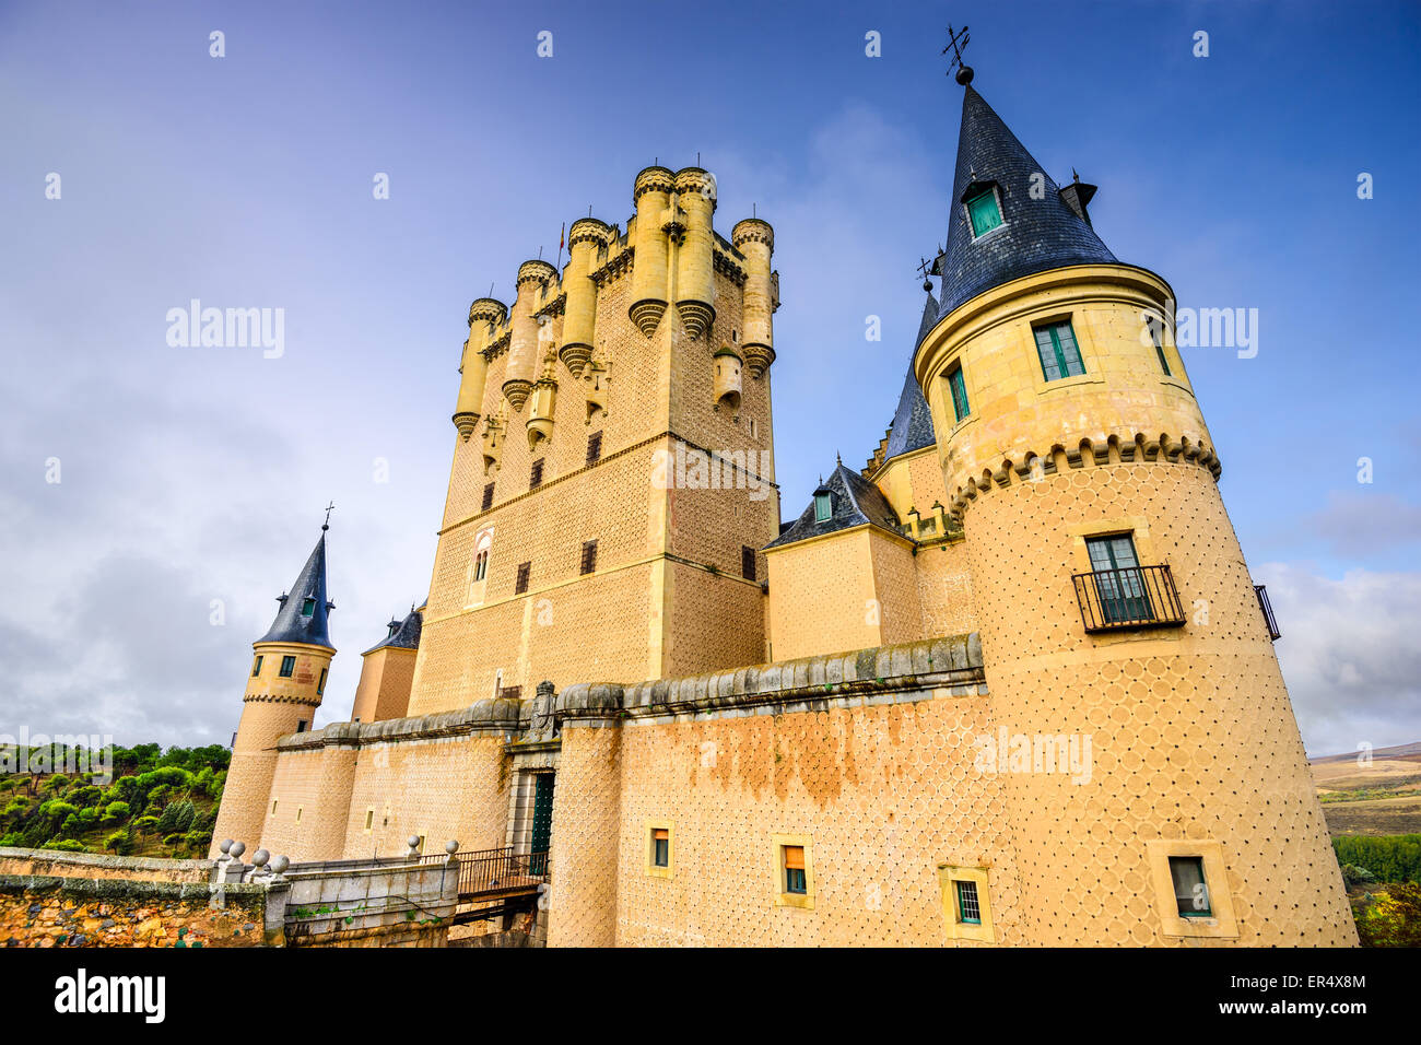
M 963 202 L 978 186 L 992 182 L 1002 203 L 1002 225 L 973 239 Z M 1033 185 L 1040 186 L 1042 199 L 1032 199 Z M 948 247 L 938 266 L 941 314 L 1023 276 L 1114 260 L 1090 222 L 1067 206 L 1056 182 L 969 84 L 962 98 Z

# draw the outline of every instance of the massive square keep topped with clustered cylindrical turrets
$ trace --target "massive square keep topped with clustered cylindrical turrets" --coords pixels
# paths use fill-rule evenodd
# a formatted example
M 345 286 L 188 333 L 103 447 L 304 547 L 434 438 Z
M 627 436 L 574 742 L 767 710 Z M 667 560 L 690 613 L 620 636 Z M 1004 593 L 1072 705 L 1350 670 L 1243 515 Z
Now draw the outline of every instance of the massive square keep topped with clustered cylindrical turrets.
M 766 658 L 773 230 L 719 235 L 699 166 L 632 203 L 469 309 L 409 715 Z

